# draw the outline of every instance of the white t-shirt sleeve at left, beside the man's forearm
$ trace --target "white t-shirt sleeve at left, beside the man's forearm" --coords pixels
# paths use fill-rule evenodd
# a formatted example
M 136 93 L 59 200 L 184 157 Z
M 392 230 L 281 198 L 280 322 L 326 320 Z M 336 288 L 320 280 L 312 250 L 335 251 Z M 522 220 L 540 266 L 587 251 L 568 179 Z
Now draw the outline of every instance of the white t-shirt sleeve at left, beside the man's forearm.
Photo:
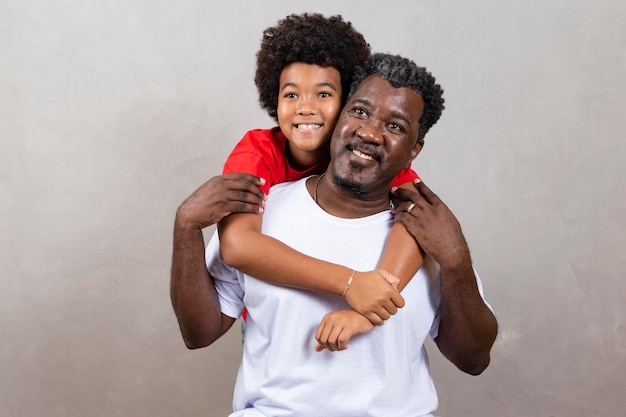
M 217 232 L 213 234 L 206 247 L 205 261 L 209 274 L 215 282 L 220 310 L 228 317 L 239 318 L 244 309 L 244 277 L 241 272 L 224 262 L 220 253 Z

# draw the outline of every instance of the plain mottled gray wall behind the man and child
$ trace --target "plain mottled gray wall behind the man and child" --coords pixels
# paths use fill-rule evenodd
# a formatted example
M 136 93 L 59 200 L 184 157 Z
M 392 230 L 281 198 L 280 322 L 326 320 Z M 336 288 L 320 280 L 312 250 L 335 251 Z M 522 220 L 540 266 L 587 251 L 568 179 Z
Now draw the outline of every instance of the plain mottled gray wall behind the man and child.
M 491 367 L 429 345 L 443 416 L 626 414 L 622 0 L 0 1 L 0 415 L 225 416 L 231 331 L 187 351 L 174 212 L 256 103 L 262 30 L 341 13 L 447 109 L 417 170 L 464 225 Z

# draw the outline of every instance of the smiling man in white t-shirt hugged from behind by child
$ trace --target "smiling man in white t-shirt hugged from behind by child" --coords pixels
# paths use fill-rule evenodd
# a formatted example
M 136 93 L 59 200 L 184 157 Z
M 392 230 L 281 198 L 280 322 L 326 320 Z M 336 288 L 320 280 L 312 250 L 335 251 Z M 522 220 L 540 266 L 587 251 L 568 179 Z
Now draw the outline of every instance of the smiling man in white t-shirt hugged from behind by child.
M 434 79 L 409 60 L 383 54 L 373 55 L 355 78 L 358 87 L 337 122 L 328 169 L 274 187 L 263 233 L 362 270 L 376 265 L 393 224 L 391 181 L 422 148 L 420 120 L 430 111 L 422 89 Z M 344 299 L 233 270 L 221 260 L 215 238 L 207 248 L 213 285 L 202 262 L 201 228 L 235 207 L 262 204 L 254 181 L 213 181 L 209 188 L 222 198 L 230 194 L 219 204 L 203 202 L 215 197 L 201 187 L 181 205 L 174 232 L 172 301 L 188 346 L 211 344 L 244 305 L 248 309 L 233 417 L 430 416 L 437 396 L 424 349 L 429 335 L 459 369 L 479 374 L 487 367 L 495 317 L 480 294 L 456 218 L 423 183 L 416 191 L 396 190 L 406 202 L 394 212 L 429 256 L 403 289 L 405 307 L 383 326 L 359 327 L 358 317 L 337 324 L 331 314 L 318 329 L 320 318 L 347 307 Z M 232 193 L 241 192 L 243 201 L 233 202 Z M 354 335 L 347 350 L 335 325 Z M 321 352 L 314 349 L 316 336 L 326 348 Z

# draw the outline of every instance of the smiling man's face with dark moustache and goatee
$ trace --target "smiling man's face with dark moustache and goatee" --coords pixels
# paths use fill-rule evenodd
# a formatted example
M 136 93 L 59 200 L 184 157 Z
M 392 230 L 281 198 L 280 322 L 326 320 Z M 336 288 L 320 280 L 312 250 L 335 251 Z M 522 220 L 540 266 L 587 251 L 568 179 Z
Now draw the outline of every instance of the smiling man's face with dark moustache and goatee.
M 336 181 L 355 190 L 388 187 L 419 151 L 422 97 L 370 76 L 346 103 L 331 141 L 331 170 Z

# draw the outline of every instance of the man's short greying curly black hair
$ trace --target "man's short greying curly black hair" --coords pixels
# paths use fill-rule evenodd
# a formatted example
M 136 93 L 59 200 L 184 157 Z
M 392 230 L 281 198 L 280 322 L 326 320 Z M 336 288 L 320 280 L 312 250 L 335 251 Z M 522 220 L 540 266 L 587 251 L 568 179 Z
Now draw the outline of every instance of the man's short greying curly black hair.
M 419 67 L 410 59 L 399 55 L 375 53 L 359 66 L 350 86 L 350 97 L 359 84 L 367 77 L 377 75 L 389 81 L 395 88 L 407 87 L 418 93 L 424 100 L 424 112 L 420 118 L 417 140 L 423 141 L 432 125 L 437 123 L 443 112 L 443 89 L 435 82 L 435 77 L 424 67 Z

